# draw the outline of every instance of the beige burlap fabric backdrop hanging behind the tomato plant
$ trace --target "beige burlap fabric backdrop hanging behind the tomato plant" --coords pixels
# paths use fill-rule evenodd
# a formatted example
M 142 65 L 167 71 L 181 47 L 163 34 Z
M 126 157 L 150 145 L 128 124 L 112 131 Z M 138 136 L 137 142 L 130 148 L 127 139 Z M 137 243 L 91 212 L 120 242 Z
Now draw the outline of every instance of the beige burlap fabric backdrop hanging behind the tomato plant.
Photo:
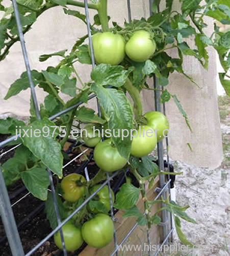
M 8 1 L 8 0 L 7 0 Z M 124 18 L 127 19 L 127 6 L 125 0 L 109 0 L 108 13 L 111 20 L 116 20 L 120 25 Z M 142 5 L 140 5 L 140 3 Z M 149 6 L 147 0 L 132 0 L 132 18 L 148 17 Z M 71 7 L 72 8 L 72 7 Z M 32 69 L 45 70 L 47 66 L 56 65 L 59 57 L 53 57 L 46 62 L 39 62 L 38 58 L 44 53 L 53 53 L 63 49 L 70 49 L 76 38 L 87 33 L 86 26 L 73 16 L 64 14 L 63 8 L 50 9 L 38 17 L 32 30 L 25 34 L 25 42 L 29 54 Z M 74 9 L 74 8 L 72 8 Z M 84 9 L 75 8 L 82 12 Z M 178 5 L 174 6 L 178 9 Z M 90 11 L 91 19 L 95 14 Z M 1 15 L 1 13 L 0 13 Z M 209 23 L 208 31 L 211 33 L 212 24 Z M 191 47 L 191 41 L 187 41 Z M 170 52 L 176 56 L 176 50 Z M 186 111 L 193 133 L 190 133 L 185 120 L 178 112 L 175 103 L 171 99 L 167 103 L 167 116 L 170 122 L 169 154 L 172 159 L 185 161 L 200 167 L 216 168 L 222 160 L 222 143 L 220 121 L 217 107 L 216 93 L 216 54 L 209 49 L 209 71 L 203 70 L 199 62 L 192 57 L 186 57 L 184 61 L 185 72 L 192 76 L 201 89 L 195 87 L 183 75 L 174 73 L 170 76 L 170 84 L 167 89 L 171 94 L 176 94 Z M 89 79 L 90 65 L 76 65 L 76 69 L 83 81 Z M 30 91 L 23 91 L 17 96 L 5 101 L 10 84 L 25 71 L 24 60 L 19 42 L 10 50 L 7 58 L 0 62 L 0 116 L 14 115 L 20 118 L 29 116 Z M 43 102 L 44 92 L 36 88 L 39 102 Z M 68 97 L 64 96 L 67 100 Z M 154 110 L 154 94 L 144 91 L 142 94 L 144 111 Z M 96 109 L 95 100 L 90 101 L 91 108 Z M 187 143 L 192 146 L 192 152 Z

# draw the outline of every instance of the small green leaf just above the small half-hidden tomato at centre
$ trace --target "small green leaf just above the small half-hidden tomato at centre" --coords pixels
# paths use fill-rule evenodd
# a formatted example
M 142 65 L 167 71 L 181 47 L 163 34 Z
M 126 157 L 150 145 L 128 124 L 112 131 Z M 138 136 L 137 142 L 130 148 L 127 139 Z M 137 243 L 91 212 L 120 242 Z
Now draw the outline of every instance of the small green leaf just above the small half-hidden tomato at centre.
M 85 106 L 82 106 L 80 109 L 76 111 L 76 119 L 83 123 L 100 123 L 104 124 L 106 120 L 95 115 L 95 111 Z

